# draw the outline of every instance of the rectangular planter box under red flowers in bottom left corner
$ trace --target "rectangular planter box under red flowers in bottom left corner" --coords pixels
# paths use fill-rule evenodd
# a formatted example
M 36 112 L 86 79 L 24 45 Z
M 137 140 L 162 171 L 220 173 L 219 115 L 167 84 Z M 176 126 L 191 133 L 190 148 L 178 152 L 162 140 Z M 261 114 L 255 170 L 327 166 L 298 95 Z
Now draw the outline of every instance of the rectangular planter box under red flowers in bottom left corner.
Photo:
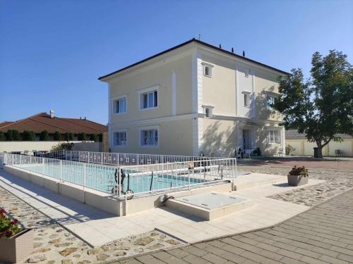
M 33 230 L 27 229 L 13 237 L 0 238 L 0 262 L 17 263 L 33 251 Z

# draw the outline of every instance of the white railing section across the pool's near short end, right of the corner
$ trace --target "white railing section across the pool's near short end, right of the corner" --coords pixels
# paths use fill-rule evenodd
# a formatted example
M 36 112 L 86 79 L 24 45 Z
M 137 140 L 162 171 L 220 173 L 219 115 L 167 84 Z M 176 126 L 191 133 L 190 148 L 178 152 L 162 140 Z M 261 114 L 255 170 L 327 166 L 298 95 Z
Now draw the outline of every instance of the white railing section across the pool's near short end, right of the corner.
M 191 189 L 199 185 L 234 180 L 237 159 L 121 166 L 118 194 L 150 194 L 156 191 Z M 134 189 L 135 188 L 135 189 Z

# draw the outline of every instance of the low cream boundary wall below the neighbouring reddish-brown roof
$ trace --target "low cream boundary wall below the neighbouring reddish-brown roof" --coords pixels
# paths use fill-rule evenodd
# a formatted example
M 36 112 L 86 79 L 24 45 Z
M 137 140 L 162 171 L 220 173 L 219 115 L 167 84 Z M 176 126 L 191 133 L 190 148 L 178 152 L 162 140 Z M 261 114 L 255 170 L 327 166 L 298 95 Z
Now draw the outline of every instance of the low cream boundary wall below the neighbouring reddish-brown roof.
M 53 146 L 66 142 L 0 142 L 0 152 L 11 151 L 50 151 Z M 101 142 L 72 142 L 73 150 L 78 151 L 100 151 Z

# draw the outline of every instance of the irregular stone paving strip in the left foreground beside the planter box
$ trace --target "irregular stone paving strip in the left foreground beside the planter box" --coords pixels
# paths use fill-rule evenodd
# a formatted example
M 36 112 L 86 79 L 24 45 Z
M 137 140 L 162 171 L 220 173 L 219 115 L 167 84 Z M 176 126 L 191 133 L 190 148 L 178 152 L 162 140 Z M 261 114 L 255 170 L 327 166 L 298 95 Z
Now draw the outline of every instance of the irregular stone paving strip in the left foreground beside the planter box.
M 0 206 L 24 228 L 34 228 L 34 251 L 22 263 L 102 263 L 182 245 L 162 232 L 150 231 L 91 248 L 40 211 L 0 187 Z

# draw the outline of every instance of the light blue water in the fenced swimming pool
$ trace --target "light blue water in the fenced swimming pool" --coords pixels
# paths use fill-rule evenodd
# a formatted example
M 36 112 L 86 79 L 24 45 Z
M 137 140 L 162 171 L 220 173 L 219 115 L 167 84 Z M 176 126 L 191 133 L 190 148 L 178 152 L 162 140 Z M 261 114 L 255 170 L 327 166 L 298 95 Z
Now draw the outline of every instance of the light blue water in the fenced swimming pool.
M 23 164 L 21 168 L 43 174 L 42 164 Z M 124 179 L 122 190 L 130 189 L 135 194 L 189 185 L 189 177 L 182 175 L 176 177 L 174 175 L 155 174 L 152 177 L 152 175 L 138 175 L 136 171 L 131 170 L 124 170 L 124 172 L 126 173 L 126 178 Z M 114 174 L 115 168 L 85 163 L 63 164 L 62 168 L 60 168 L 59 164 L 46 164 L 44 166 L 44 175 L 106 192 L 111 192 L 116 185 Z M 128 177 L 129 174 L 131 174 L 130 177 Z M 190 178 L 190 184 L 202 182 L 205 181 L 193 177 Z

